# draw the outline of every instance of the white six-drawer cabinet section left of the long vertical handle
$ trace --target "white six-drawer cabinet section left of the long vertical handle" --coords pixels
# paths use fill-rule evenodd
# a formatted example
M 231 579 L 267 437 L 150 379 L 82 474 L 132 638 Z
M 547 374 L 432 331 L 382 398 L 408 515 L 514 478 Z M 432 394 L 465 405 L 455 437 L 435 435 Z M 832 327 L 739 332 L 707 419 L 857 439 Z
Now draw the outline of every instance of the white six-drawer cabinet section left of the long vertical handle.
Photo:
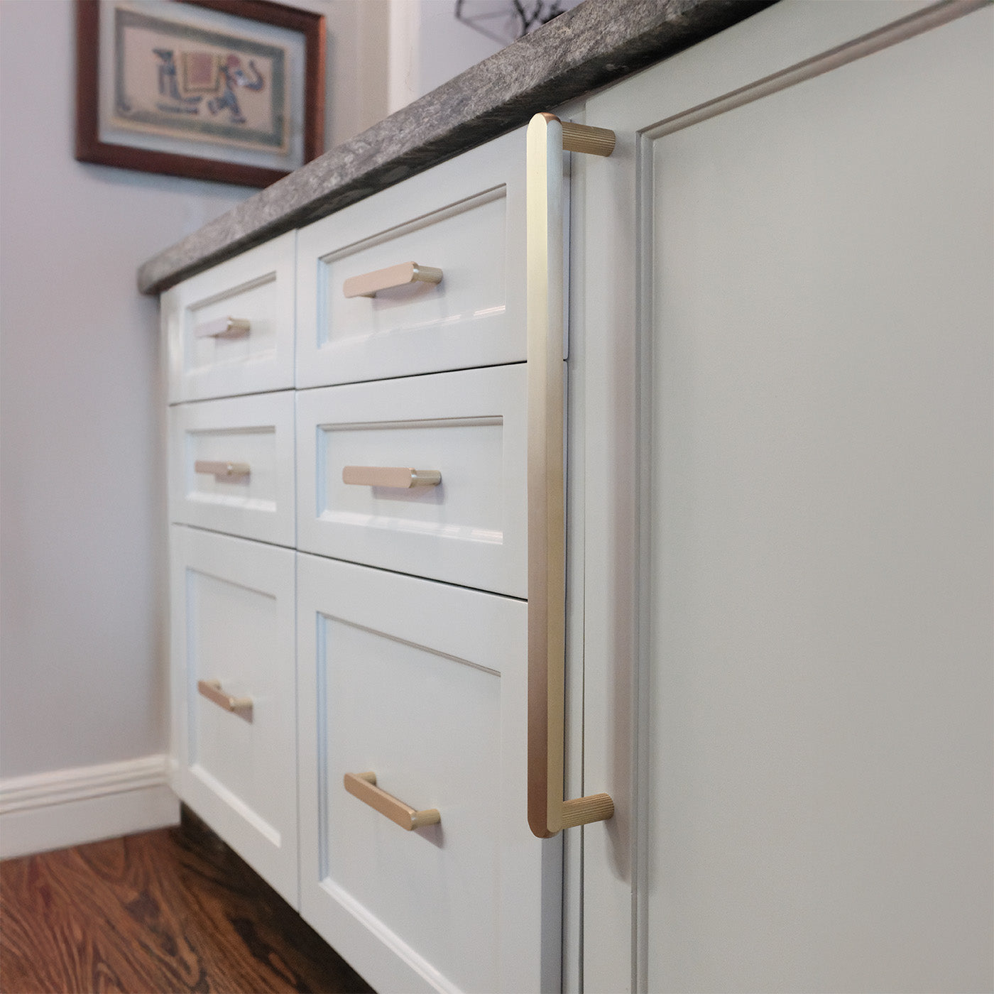
M 176 788 L 384 994 L 561 983 L 524 179 L 519 130 L 163 301 Z

